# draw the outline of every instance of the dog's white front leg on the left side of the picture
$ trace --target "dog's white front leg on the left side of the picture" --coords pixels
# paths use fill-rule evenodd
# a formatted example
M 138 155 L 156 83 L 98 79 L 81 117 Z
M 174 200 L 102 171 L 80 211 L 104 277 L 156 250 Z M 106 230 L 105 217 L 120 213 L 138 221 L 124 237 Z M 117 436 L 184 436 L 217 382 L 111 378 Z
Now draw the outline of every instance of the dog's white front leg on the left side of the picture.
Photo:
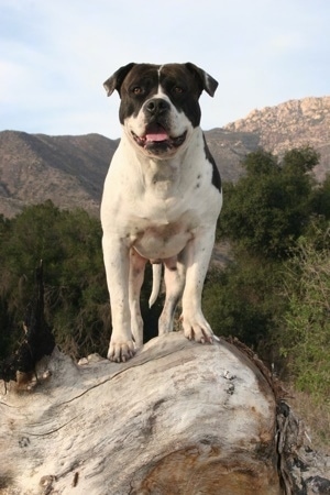
M 103 235 L 102 246 L 112 319 L 108 359 L 120 363 L 134 355 L 129 305 L 130 250 L 113 235 Z

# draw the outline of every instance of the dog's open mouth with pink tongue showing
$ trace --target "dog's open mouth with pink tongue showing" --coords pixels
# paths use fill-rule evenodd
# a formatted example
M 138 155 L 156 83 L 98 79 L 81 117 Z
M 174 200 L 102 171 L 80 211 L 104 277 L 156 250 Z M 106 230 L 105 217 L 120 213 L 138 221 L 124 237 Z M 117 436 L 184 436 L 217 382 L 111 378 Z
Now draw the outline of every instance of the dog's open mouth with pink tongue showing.
M 163 125 L 160 123 L 153 123 L 147 125 L 144 135 L 139 136 L 133 131 L 132 135 L 139 146 L 151 151 L 158 150 L 162 152 L 172 147 L 180 146 L 186 140 L 187 131 L 179 136 L 173 138 Z

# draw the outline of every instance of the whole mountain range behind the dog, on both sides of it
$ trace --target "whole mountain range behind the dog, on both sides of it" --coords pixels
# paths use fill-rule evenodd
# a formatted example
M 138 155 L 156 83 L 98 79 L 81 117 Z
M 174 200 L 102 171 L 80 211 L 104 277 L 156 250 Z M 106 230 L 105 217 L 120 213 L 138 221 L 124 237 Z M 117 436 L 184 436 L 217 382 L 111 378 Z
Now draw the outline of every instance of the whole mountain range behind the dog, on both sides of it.
M 237 180 L 246 153 L 263 146 L 282 154 L 310 144 L 321 154 L 315 173 L 330 172 L 330 97 L 290 100 L 253 110 L 245 119 L 206 132 L 223 180 Z M 0 213 L 51 199 L 61 208 L 99 215 L 103 180 L 119 140 L 99 134 L 50 136 L 0 132 Z

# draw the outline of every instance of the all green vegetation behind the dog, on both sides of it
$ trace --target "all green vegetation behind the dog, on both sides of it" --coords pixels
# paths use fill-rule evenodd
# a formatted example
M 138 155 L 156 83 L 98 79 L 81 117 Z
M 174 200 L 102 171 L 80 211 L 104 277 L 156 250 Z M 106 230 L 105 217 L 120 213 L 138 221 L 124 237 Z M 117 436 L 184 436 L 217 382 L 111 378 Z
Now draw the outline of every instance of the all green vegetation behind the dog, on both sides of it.
M 330 176 L 315 182 L 310 170 L 318 160 L 309 146 L 288 150 L 280 160 L 262 148 L 246 155 L 244 176 L 224 183 L 217 230 L 218 242 L 230 242 L 233 261 L 210 270 L 202 304 L 218 336 L 250 345 L 326 407 L 329 418 Z M 40 260 L 57 344 L 76 359 L 105 355 L 111 316 L 99 220 L 46 201 L 0 217 L 0 361 L 24 338 Z M 147 309 L 150 278 L 148 271 L 142 289 L 146 340 L 156 334 L 162 307 L 160 300 Z

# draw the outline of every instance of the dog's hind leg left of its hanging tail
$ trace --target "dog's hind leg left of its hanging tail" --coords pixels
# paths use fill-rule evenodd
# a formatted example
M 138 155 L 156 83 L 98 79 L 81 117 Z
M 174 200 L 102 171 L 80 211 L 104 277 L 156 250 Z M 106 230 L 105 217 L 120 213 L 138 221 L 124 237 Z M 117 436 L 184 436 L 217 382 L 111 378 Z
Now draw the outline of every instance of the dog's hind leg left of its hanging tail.
M 143 320 L 140 309 L 140 293 L 144 278 L 146 260 L 133 249 L 130 252 L 129 300 L 131 310 L 131 331 L 136 348 L 143 345 Z

